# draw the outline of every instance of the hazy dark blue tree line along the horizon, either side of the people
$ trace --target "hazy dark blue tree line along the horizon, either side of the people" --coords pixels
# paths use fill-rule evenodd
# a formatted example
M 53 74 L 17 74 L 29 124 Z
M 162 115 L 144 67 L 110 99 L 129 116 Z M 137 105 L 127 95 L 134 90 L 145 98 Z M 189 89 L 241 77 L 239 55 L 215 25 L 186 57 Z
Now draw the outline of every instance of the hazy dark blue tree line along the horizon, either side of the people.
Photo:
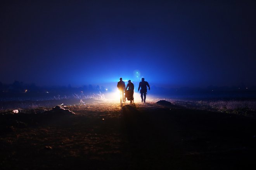
M 0 93 L 104 93 L 107 92 L 104 86 L 99 85 L 83 85 L 81 87 L 67 86 L 37 86 L 35 83 L 26 84 L 14 81 L 12 84 L 3 84 L 0 82 Z M 208 86 L 206 88 L 199 87 L 179 87 L 179 88 L 163 88 L 152 85 L 152 94 L 175 94 L 175 93 L 209 93 L 209 92 L 256 92 L 256 86 L 246 87 L 240 86 Z

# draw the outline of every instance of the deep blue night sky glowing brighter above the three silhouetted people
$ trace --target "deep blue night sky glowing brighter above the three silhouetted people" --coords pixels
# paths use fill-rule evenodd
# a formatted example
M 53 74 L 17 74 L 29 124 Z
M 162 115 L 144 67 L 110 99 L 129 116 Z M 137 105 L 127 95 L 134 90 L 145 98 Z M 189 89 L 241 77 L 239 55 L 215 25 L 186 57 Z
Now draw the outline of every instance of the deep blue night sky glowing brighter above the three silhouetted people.
M 2 83 L 256 85 L 253 0 L 9 0 L 0 13 Z

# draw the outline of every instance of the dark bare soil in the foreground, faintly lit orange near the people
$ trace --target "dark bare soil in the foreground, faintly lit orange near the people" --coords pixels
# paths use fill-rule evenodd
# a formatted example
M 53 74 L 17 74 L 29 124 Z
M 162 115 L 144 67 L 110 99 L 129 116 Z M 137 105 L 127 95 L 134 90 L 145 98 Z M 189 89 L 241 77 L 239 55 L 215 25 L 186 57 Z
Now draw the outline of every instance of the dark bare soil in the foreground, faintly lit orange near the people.
M 256 119 L 154 102 L 2 114 L 0 169 L 248 169 Z

